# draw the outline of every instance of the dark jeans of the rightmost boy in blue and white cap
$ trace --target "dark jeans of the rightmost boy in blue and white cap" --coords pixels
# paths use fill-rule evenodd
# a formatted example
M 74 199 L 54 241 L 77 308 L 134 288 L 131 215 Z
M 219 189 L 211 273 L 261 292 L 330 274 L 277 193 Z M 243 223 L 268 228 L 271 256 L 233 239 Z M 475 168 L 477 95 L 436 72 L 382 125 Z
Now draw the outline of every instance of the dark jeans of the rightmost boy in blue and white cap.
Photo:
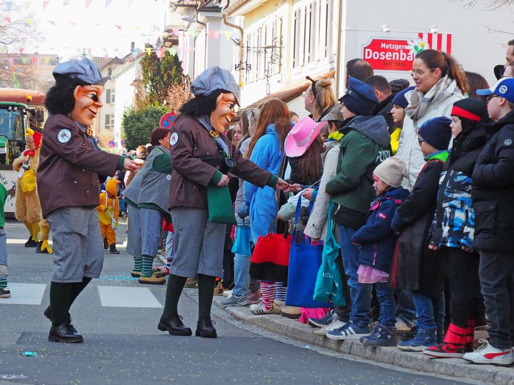
M 497 349 L 514 346 L 514 255 L 480 251 L 480 283 L 489 317 L 489 343 Z

